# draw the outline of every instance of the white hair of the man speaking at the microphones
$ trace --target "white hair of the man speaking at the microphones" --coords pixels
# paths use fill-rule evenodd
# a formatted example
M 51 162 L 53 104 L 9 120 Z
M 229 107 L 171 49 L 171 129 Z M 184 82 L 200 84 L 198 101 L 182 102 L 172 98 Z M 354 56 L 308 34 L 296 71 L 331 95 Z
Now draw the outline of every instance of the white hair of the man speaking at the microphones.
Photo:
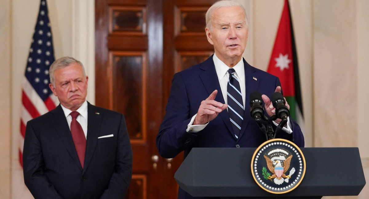
M 245 22 L 246 22 L 246 26 L 249 27 L 249 22 L 247 20 L 247 15 L 246 15 L 246 10 L 244 8 L 244 6 L 242 6 L 242 4 L 235 2 L 235 1 L 231 1 L 231 0 L 220 0 L 215 2 L 206 12 L 205 15 L 205 20 L 206 20 L 206 28 L 208 28 L 210 30 L 210 32 L 212 32 L 213 28 L 212 28 L 212 24 L 211 24 L 211 15 L 214 13 L 215 10 L 217 10 L 218 8 L 222 8 L 222 7 L 235 7 L 238 6 L 240 8 L 242 8 L 242 10 L 244 11 L 245 14 Z

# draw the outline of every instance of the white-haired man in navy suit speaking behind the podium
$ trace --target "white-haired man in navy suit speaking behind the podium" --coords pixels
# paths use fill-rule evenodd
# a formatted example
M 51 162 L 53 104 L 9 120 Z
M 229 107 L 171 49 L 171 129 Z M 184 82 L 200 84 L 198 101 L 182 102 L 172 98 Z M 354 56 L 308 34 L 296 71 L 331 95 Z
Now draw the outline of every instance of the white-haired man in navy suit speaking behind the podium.
M 218 1 L 207 11 L 206 24 L 206 36 L 215 53 L 173 77 L 166 114 L 156 137 L 159 154 L 165 158 L 175 157 L 182 151 L 186 158 L 194 147 L 257 147 L 266 141 L 251 118 L 249 96 L 254 91 L 267 95 L 280 92 L 280 81 L 242 58 L 248 39 L 245 9 L 232 1 Z M 232 69 L 235 72 L 230 75 Z M 230 76 L 239 82 L 237 95 L 242 96 L 241 102 L 238 101 L 243 109 L 242 113 L 237 112 L 242 118 L 238 126 L 231 117 L 235 111 L 230 105 L 233 99 L 229 97 L 234 96 L 228 87 L 232 85 Z M 262 95 L 265 111 L 273 116 L 275 108 L 267 95 Z M 288 120 L 277 138 L 304 146 L 300 127 Z M 276 120 L 274 126 L 280 121 Z M 178 198 L 193 197 L 179 189 Z

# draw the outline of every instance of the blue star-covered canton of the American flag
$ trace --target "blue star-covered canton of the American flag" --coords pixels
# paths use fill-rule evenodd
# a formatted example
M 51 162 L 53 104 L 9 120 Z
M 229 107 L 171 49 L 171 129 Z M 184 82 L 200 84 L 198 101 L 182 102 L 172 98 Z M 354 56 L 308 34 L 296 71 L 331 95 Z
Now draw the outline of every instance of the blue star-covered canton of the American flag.
M 25 77 L 44 101 L 52 94 L 49 88 L 49 68 L 54 60 L 47 4 L 45 0 L 42 0 L 27 60 Z

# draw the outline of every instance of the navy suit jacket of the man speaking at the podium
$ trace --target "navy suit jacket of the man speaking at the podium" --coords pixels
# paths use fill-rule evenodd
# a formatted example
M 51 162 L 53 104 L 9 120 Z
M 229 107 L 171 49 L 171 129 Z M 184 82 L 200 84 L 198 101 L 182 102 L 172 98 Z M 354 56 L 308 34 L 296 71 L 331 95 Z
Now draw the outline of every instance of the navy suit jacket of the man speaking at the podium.
M 269 96 L 280 86 L 279 79 L 265 71 L 252 67 L 244 60 L 246 99 L 244 121 L 239 138 L 236 140 L 231 126 L 228 111 L 222 111 L 200 132 L 186 132 L 192 116 L 197 113 L 200 103 L 215 89 L 218 94 L 215 100 L 224 103 L 220 84 L 213 62 L 213 56 L 201 64 L 178 72 L 172 80 L 172 88 L 164 120 L 156 137 L 159 154 L 165 158 L 175 157 L 184 151 L 184 158 L 193 147 L 258 147 L 266 141 L 255 120 L 250 115 L 250 93 L 258 91 Z M 292 134 L 279 132 L 277 138 L 293 141 L 304 146 L 304 137 L 300 127 L 291 118 Z M 178 198 L 192 198 L 179 189 Z

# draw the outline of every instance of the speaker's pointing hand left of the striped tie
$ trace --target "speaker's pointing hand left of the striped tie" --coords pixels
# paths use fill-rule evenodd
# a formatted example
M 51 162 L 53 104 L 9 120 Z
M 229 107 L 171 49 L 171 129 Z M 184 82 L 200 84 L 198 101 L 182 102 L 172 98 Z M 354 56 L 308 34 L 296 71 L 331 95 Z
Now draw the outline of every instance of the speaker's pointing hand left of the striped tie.
M 214 90 L 208 98 L 201 102 L 196 118 L 192 123 L 193 125 L 206 124 L 207 122 L 214 120 L 220 112 L 227 109 L 227 104 L 222 104 L 214 100 L 217 93 L 218 90 Z

